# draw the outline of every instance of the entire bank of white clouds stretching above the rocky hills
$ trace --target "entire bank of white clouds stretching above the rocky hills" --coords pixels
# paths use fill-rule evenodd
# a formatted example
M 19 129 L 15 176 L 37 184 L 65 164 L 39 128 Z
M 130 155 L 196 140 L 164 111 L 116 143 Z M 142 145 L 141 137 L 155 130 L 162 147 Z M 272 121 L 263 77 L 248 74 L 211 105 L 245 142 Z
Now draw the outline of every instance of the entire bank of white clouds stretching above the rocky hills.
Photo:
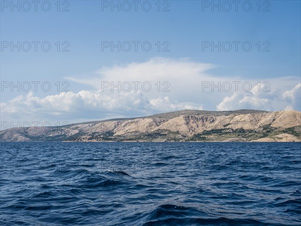
M 32 92 L 20 95 L 1 103 L 1 117 L 2 121 L 51 119 L 81 122 L 182 109 L 300 110 L 298 77 L 263 78 L 258 83 L 256 78 L 215 76 L 208 72 L 214 67 L 216 65 L 189 59 L 168 58 L 102 67 L 91 75 L 69 77 L 74 82 L 90 86 L 88 90 L 46 97 Z M 152 86 L 148 91 L 141 86 L 145 81 Z M 115 85 L 130 82 L 132 87 L 129 91 L 118 91 L 117 88 L 112 91 L 111 87 L 104 88 L 103 82 Z M 133 82 L 138 82 L 137 90 Z

